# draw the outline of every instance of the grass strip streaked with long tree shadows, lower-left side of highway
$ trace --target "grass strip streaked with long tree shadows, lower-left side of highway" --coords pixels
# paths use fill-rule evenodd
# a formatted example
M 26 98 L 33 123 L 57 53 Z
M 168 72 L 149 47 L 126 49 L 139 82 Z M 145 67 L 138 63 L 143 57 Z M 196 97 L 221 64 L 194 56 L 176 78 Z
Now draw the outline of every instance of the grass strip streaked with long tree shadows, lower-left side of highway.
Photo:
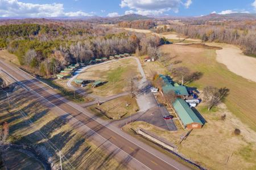
M 80 131 L 73 128 L 68 114 L 58 115 L 54 108 L 51 110 L 45 108 L 36 96 L 20 90 L 10 94 L 11 104 L 15 103 L 15 105 L 12 105 L 9 112 L 6 110 L 8 101 L 3 100 L 3 95 L 0 94 L 0 124 L 5 121 L 9 123 L 9 142 L 17 145 L 32 145 L 56 168 L 60 167 L 59 151 L 54 147 L 58 148 L 63 155 L 63 169 L 72 169 L 70 164 L 73 169 L 116 169 L 118 167 L 117 160 L 108 155 L 105 148 L 96 150 L 94 141 L 85 138 Z M 24 96 L 30 96 L 30 98 Z M 24 117 L 20 110 L 27 116 Z M 41 133 L 44 134 L 43 137 Z M 26 160 L 23 161 L 26 162 Z M 22 162 L 18 163 L 22 164 Z

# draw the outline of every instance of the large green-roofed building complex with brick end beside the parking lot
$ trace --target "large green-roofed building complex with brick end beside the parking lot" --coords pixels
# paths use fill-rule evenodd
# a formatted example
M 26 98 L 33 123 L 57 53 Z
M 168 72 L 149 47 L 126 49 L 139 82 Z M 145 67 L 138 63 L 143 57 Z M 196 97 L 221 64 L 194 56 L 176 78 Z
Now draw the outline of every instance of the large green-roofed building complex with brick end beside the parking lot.
M 167 94 L 170 91 L 174 91 L 178 99 L 172 104 L 175 110 L 175 114 L 183 127 L 183 129 L 200 129 L 204 125 L 200 118 L 200 113 L 196 111 L 195 108 L 189 107 L 188 103 L 181 99 L 183 97 L 189 96 L 187 87 L 181 86 L 175 83 L 170 76 L 159 75 L 163 80 L 163 93 Z

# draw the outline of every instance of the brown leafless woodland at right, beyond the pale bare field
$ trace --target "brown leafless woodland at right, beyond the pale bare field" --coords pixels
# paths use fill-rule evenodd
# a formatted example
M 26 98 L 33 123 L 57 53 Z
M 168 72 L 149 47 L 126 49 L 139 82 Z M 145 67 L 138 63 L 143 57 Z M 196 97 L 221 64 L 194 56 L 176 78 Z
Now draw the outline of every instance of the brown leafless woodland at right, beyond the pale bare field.
M 225 42 L 240 45 L 245 54 L 256 55 L 256 22 L 207 22 L 203 25 L 168 25 L 159 27 L 156 32 L 177 32 L 203 42 Z

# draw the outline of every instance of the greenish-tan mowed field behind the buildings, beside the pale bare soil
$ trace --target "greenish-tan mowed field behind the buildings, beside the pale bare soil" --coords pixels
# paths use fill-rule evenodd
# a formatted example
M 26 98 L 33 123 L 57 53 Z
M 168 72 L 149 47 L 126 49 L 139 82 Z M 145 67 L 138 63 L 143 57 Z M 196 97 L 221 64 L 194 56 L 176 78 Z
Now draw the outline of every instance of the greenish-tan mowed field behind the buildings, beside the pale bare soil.
M 199 90 L 203 90 L 205 86 L 209 85 L 229 88 L 229 96 L 224 103 L 242 122 L 256 131 L 255 82 L 232 73 L 225 65 L 218 63 L 215 49 L 205 49 L 200 45 L 164 45 L 162 50 L 170 57 L 174 57 L 170 59 L 170 63 L 176 60 L 182 61 L 174 67 L 186 66 L 193 71 L 203 73 L 201 79 L 189 84 L 189 86 L 197 87 Z

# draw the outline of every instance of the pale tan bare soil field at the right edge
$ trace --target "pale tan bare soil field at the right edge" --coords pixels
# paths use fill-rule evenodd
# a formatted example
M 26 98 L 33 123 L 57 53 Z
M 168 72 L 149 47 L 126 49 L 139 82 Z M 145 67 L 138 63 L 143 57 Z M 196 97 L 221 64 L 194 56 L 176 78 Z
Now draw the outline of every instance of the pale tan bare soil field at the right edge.
M 233 73 L 256 82 L 256 58 L 245 56 L 235 45 L 218 43 L 207 43 L 207 45 L 221 46 L 222 50 L 216 50 L 217 61 L 223 63 Z

